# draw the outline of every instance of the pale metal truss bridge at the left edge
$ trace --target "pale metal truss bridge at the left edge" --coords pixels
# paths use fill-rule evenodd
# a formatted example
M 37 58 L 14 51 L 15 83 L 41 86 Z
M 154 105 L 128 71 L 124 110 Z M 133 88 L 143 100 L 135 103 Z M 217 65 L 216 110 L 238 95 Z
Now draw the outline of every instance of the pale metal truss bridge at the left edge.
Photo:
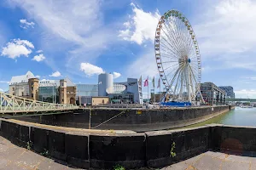
M 0 113 L 3 114 L 9 112 L 66 111 L 78 108 L 77 105 L 53 104 L 0 92 Z

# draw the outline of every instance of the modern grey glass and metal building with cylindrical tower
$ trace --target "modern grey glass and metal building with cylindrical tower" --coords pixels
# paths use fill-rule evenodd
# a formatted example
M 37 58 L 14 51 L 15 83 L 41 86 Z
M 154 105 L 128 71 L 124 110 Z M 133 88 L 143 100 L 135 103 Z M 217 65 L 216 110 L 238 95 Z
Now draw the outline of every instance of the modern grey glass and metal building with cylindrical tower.
M 142 87 L 137 78 L 127 78 L 127 82 L 113 82 L 110 73 L 100 74 L 98 84 L 77 84 L 77 104 L 92 104 L 92 97 L 107 97 L 109 103 L 143 104 Z

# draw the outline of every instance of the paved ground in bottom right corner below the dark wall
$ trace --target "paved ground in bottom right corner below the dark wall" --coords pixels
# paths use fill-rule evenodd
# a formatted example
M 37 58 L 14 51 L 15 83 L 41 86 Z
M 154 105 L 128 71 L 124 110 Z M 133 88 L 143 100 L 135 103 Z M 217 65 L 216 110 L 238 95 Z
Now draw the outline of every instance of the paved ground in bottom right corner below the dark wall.
M 207 151 L 161 170 L 256 170 L 256 157 Z

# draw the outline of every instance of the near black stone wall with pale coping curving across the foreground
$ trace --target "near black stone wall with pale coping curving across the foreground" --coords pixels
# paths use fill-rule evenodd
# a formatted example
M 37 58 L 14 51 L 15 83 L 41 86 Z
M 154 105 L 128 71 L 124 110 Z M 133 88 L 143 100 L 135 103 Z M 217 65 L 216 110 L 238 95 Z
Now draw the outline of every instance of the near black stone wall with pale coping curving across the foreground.
M 12 143 L 82 168 L 166 167 L 207 150 L 255 156 L 256 127 L 211 124 L 145 133 L 81 133 L 0 120 L 0 135 Z M 173 147 L 175 144 L 175 147 Z M 172 150 L 173 148 L 173 150 Z M 171 150 L 176 156 L 172 156 Z

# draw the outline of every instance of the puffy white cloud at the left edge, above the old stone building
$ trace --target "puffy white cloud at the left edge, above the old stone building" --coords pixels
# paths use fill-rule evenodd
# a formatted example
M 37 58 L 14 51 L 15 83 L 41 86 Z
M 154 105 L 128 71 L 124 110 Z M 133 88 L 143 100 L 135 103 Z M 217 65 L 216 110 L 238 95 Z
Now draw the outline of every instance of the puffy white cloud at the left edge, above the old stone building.
M 21 55 L 28 57 L 28 54 L 32 53 L 32 48 L 34 48 L 32 42 L 14 39 L 6 44 L 1 55 L 7 56 L 10 59 L 19 58 Z

